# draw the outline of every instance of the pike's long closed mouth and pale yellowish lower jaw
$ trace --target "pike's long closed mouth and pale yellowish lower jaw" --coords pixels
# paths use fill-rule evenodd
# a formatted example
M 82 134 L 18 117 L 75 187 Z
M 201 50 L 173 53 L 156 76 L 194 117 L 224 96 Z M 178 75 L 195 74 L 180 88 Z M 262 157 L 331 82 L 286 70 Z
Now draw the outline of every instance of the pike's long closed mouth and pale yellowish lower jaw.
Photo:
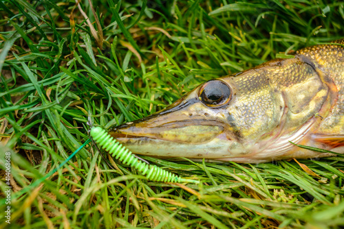
M 121 125 L 109 132 L 117 141 L 134 154 L 158 158 L 227 158 L 230 153 L 228 139 L 223 128 L 209 125 L 187 125 L 169 129 L 140 128 Z M 191 131 L 195 130 L 193 134 Z M 224 152 L 227 152 L 224 153 Z

